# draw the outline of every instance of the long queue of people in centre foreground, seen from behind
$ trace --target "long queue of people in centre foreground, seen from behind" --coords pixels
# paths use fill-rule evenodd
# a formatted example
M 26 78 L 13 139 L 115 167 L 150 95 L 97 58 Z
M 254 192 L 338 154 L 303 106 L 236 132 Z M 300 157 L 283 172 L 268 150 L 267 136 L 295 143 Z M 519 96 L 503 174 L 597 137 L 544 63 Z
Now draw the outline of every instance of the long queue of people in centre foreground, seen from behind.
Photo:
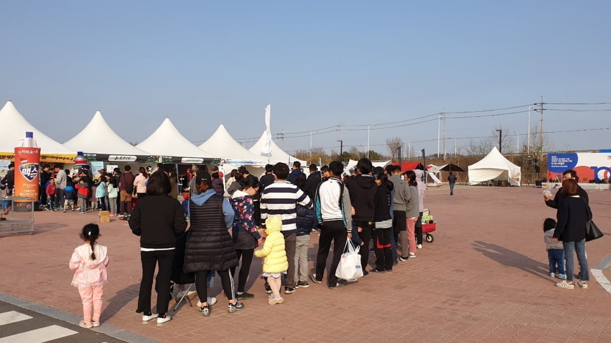
M 128 201 L 131 192 L 139 197 L 129 224 L 140 237 L 142 281 L 136 311 L 142 313 L 142 322 L 156 320 L 164 325 L 171 320 L 167 314 L 170 286 L 191 280 L 196 291 L 189 295 L 199 298 L 200 314 L 210 316 L 217 302 L 209 296 L 215 275 L 229 300 L 227 311 L 242 311 L 242 301 L 255 298 L 246 289 L 255 257 L 264 258 L 264 290 L 270 305 L 284 303 L 285 295 L 309 287 L 309 281 L 322 283 L 331 246 L 327 287 L 340 289 L 356 281 L 335 276 L 348 239 L 360 246 L 364 276 L 391 272 L 399 260 L 415 258 L 415 251 L 422 247 L 417 242 L 416 223 L 422 215 L 423 193 L 419 193 L 413 171 L 402 177 L 399 167 L 373 168 L 368 159 L 361 159 L 344 183 L 342 162 L 331 162 L 320 171 L 315 165 L 309 169 L 306 176 L 299 162 L 293 164 L 293 170 L 278 163 L 267 165 L 265 175 L 257 178 L 240 167 L 220 192 L 215 187 L 218 168 L 210 168 L 212 175 L 193 168 L 183 204 L 168 196 L 174 187 L 164 171 L 147 177 L 141 170 L 132 178 L 126 167 L 115 175 L 119 184 L 132 179 L 134 183 L 133 190 L 119 187 L 121 200 Z M 139 189 L 144 180 L 145 189 Z M 313 232 L 319 234 L 319 245 L 314 268 L 309 269 L 307 252 Z M 369 266 L 370 242 L 376 256 L 373 267 Z M 158 313 L 153 313 L 151 294 L 157 268 Z M 179 289 L 180 295 L 185 294 L 184 286 Z M 84 318 L 85 327 L 95 323 L 95 309 L 93 314 L 92 319 Z

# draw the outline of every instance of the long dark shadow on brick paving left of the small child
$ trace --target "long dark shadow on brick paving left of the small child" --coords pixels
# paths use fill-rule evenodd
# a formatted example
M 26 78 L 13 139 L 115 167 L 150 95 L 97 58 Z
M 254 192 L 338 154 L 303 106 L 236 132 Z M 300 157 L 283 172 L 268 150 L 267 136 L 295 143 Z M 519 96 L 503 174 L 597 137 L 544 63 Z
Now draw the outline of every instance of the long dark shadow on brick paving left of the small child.
M 543 280 L 550 280 L 547 276 L 549 272 L 547 264 L 535 261 L 521 253 L 516 253 L 516 251 L 503 248 L 500 245 L 481 242 L 481 240 L 475 240 L 473 248 L 492 261 L 499 262 L 499 264 L 524 270 L 524 272 L 538 276 Z

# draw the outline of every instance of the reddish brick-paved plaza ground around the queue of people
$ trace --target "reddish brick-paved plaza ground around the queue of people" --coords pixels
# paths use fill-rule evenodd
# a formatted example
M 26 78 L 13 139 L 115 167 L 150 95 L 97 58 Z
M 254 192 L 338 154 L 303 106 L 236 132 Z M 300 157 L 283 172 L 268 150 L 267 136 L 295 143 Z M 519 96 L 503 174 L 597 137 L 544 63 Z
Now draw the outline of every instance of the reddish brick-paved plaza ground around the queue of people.
M 163 327 L 142 325 L 134 312 L 139 241 L 126 222 L 113 218 L 101 224 L 100 243 L 111 256 L 101 321 L 167 342 L 611 341 L 611 294 L 593 277 L 590 289 L 569 290 L 554 287 L 558 279 L 547 275 L 542 223 L 555 210 L 545 206 L 541 189 L 460 187 L 448 193 L 447 187 L 428 191 L 426 207 L 438 221 L 434 242 L 392 273 L 370 274 L 338 291 L 310 282 L 286 295 L 284 304 L 269 306 L 259 277 L 262 260 L 255 259 L 247 284 L 255 298 L 243 301 L 244 311 L 228 314 L 217 295 L 211 317 L 186 305 L 170 312 L 174 320 Z M 595 222 L 611 236 L 611 192 L 588 193 Z M 0 238 L 0 292 L 81 314 L 68 260 L 81 244 L 79 229 L 95 222 L 97 213 L 35 216 L 34 236 Z M 588 243 L 590 268 L 611 253 L 610 239 Z M 317 240 L 313 234 L 310 265 Z

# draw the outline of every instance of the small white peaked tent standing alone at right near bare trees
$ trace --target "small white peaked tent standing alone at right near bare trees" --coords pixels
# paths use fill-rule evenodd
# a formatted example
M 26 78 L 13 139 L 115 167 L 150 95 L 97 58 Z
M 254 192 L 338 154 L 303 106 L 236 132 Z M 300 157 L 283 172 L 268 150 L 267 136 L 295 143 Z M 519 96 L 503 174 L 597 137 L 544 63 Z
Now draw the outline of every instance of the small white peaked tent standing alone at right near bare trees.
M 511 186 L 520 186 L 521 178 L 521 168 L 499 153 L 496 146 L 486 157 L 469 165 L 469 184 L 472 186 L 490 180 L 507 181 Z

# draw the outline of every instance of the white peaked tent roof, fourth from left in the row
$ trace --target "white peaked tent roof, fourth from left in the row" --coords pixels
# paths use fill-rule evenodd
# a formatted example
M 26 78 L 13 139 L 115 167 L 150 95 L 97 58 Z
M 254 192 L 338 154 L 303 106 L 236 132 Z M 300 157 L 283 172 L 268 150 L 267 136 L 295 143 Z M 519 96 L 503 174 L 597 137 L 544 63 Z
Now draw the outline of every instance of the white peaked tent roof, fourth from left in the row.
M 264 160 L 258 154 L 251 153 L 251 151 L 248 151 L 244 146 L 236 142 L 222 124 L 199 148 L 210 151 L 214 156 L 219 156 L 233 165 L 265 164 L 267 161 L 267 159 Z

